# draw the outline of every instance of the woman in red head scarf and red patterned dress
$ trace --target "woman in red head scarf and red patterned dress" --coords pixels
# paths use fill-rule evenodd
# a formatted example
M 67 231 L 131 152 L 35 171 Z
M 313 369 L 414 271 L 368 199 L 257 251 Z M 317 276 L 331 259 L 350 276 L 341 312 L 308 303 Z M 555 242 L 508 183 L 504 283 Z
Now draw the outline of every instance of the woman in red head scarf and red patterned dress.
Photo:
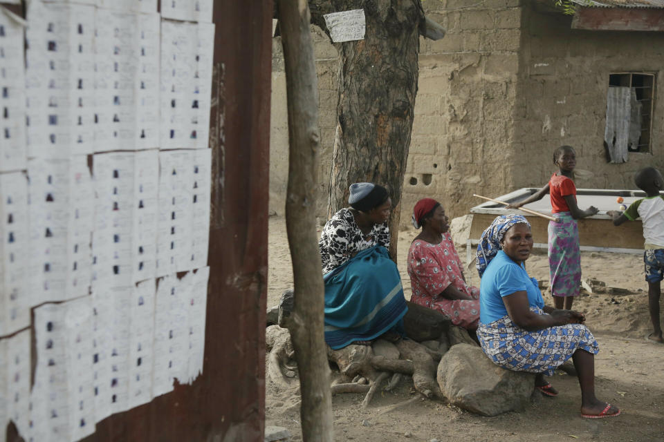
M 479 289 L 465 283 L 443 206 L 431 198 L 419 200 L 413 210 L 413 225 L 422 232 L 408 251 L 411 302 L 440 311 L 454 325 L 477 329 Z

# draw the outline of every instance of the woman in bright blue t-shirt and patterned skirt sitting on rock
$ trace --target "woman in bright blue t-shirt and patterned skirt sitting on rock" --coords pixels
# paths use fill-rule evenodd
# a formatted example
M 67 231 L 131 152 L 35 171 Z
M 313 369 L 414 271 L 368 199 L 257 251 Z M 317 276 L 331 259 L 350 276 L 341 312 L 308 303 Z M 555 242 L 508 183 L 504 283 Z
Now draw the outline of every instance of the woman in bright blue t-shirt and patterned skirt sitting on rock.
M 557 391 L 544 380 L 570 357 L 581 386 L 581 416 L 618 416 L 620 410 L 595 396 L 597 341 L 582 325 L 583 314 L 544 305 L 537 280 L 524 261 L 531 255 L 531 225 L 521 215 L 497 217 L 477 246 L 479 327 L 483 352 L 497 365 L 531 372 L 535 387 L 546 396 Z

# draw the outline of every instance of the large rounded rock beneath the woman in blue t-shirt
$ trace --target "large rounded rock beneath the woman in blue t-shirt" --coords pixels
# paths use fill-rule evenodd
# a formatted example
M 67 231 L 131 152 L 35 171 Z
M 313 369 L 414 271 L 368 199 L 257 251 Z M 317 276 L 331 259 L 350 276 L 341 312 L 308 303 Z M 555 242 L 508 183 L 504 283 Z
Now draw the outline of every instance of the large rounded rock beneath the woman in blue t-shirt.
M 445 353 L 437 379 L 452 405 L 484 416 L 524 410 L 535 385 L 534 374 L 498 367 L 481 348 L 468 344 L 454 345 Z

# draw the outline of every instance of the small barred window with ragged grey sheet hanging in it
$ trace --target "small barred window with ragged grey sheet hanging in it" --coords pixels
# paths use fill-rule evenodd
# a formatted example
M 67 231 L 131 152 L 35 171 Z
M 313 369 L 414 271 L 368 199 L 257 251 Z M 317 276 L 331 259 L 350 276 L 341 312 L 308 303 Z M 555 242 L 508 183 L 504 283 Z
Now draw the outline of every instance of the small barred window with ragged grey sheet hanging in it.
M 609 75 L 605 144 L 611 162 L 627 161 L 627 152 L 651 152 L 654 88 L 654 74 Z

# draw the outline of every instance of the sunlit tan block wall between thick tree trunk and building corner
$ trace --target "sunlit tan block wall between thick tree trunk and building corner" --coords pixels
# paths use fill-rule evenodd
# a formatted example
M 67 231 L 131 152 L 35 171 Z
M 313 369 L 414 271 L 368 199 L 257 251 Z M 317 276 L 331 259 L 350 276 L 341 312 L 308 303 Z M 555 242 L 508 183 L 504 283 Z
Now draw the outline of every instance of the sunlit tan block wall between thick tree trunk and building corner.
M 496 196 L 510 177 L 501 154 L 515 142 L 512 120 L 522 38 L 519 0 L 429 0 L 427 17 L 447 35 L 421 39 L 412 142 L 401 224 L 420 198 L 439 200 L 450 217 Z

